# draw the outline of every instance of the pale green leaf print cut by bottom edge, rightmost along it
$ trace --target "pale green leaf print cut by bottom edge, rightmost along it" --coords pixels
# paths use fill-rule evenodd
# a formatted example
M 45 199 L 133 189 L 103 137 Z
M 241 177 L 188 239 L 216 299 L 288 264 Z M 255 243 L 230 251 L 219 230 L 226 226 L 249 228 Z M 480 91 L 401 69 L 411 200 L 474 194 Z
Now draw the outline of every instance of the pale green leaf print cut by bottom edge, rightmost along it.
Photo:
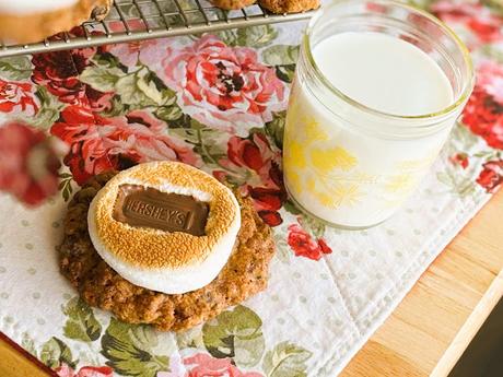
M 264 357 L 262 368 L 267 377 L 305 377 L 305 362 L 312 352 L 290 342 L 281 342 Z

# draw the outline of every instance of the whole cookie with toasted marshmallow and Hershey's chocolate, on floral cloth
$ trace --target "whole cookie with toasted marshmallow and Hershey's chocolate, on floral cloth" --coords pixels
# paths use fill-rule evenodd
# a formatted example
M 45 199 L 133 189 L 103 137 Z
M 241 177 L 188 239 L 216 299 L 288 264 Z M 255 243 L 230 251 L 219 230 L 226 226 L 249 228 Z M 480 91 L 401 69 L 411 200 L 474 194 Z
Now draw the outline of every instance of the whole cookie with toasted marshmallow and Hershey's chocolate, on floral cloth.
M 175 331 L 265 290 L 273 252 L 250 199 L 172 162 L 91 179 L 69 204 L 59 247 L 61 272 L 86 303 Z

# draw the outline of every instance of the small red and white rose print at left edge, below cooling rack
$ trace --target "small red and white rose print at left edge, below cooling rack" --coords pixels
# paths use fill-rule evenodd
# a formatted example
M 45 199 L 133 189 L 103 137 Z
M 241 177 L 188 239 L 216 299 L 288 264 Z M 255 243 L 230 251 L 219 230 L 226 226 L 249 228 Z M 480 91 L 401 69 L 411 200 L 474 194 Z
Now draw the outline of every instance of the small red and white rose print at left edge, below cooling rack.
M 0 111 L 23 111 L 33 116 L 38 111 L 38 104 L 31 83 L 10 82 L 0 79 Z

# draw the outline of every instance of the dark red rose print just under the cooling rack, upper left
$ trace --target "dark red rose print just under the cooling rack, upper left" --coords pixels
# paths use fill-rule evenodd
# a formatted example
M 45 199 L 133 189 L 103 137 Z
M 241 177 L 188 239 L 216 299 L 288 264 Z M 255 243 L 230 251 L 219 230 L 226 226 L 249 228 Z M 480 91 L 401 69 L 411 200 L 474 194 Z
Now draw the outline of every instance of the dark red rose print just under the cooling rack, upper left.
M 95 54 L 96 48 L 35 54 L 32 58 L 32 81 L 47 87 L 63 103 L 95 110 L 107 109 L 113 94 L 95 91 L 79 81 L 79 74 L 91 64 Z

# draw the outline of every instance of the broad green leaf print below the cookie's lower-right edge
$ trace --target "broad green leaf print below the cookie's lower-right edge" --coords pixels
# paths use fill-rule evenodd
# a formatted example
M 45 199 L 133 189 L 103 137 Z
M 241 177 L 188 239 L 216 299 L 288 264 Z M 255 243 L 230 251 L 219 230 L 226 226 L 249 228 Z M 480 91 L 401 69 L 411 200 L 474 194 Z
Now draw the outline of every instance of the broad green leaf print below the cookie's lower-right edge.
M 265 347 L 262 321 L 245 306 L 223 311 L 202 327 L 208 352 L 218 358 L 232 357 L 242 367 L 258 364 Z

